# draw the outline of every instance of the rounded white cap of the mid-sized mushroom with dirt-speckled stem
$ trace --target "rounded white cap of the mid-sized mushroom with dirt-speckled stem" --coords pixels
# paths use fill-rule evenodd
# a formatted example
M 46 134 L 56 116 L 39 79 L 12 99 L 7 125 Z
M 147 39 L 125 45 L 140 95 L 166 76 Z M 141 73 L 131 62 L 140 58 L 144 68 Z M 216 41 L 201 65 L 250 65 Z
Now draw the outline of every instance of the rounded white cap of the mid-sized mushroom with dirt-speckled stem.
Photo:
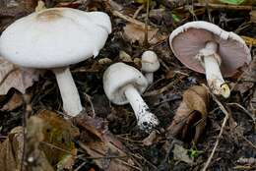
M 148 81 L 143 74 L 124 63 L 115 63 L 107 68 L 103 75 L 103 88 L 108 99 L 115 104 L 126 104 L 124 87 L 133 85 L 140 93 L 148 87 Z

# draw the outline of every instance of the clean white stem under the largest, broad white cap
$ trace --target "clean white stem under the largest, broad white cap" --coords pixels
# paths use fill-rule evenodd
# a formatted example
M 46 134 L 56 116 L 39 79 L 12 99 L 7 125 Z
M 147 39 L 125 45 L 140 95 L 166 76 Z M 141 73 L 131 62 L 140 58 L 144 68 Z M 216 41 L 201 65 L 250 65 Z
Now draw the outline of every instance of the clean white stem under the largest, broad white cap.
M 52 71 L 59 86 L 64 111 L 72 117 L 78 115 L 83 107 L 69 68 L 52 69 Z

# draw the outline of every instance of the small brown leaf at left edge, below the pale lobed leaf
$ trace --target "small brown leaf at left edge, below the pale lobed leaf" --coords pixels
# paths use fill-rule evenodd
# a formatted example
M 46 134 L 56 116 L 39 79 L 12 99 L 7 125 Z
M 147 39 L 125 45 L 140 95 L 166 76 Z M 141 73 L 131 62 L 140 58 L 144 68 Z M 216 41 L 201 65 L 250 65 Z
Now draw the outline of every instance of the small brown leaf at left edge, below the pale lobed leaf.
M 0 111 L 13 111 L 23 104 L 21 93 L 15 92 L 9 101 L 0 109 Z

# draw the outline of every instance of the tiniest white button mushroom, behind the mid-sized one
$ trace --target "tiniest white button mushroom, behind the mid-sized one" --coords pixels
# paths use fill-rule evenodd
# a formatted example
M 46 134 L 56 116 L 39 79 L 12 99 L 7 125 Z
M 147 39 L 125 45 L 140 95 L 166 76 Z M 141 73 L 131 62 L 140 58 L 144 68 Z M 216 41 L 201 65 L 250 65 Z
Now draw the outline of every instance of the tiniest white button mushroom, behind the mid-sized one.
M 145 51 L 142 54 L 142 72 L 148 80 L 149 85 L 153 84 L 154 72 L 160 69 L 158 55 L 151 50 Z

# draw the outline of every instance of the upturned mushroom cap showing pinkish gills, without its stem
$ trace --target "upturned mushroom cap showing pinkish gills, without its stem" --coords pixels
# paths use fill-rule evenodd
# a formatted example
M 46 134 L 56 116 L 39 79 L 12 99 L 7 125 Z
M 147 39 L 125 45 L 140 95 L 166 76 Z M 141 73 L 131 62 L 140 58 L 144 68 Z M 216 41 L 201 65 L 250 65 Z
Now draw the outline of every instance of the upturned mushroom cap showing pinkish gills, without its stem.
M 196 55 L 209 41 L 218 44 L 217 53 L 222 58 L 220 68 L 224 77 L 232 76 L 239 67 L 251 61 L 250 50 L 239 35 L 208 22 L 190 22 L 169 35 L 169 45 L 176 58 L 199 73 L 205 73 L 205 69 Z

